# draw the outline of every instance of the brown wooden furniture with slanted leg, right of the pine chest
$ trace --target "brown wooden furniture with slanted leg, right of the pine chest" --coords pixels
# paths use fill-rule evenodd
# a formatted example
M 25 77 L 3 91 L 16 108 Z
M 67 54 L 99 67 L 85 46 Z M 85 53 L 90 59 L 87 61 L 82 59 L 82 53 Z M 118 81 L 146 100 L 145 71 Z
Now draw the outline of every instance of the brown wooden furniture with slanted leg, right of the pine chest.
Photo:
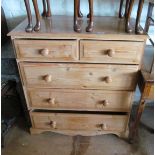
M 151 25 L 154 25 L 154 20 L 152 18 L 153 7 L 154 7 L 154 2 L 149 1 L 148 13 L 147 13 L 146 23 L 144 28 L 145 33 L 148 33 L 149 27 Z M 153 46 L 152 50 L 154 50 L 153 40 L 149 36 L 148 36 L 148 39 L 150 40 Z M 148 50 L 146 52 L 150 52 L 150 51 Z M 138 80 L 138 86 L 141 92 L 141 98 L 139 101 L 139 106 L 137 109 L 135 121 L 130 131 L 129 140 L 131 143 L 133 143 L 135 140 L 135 136 L 138 130 L 138 125 L 141 119 L 141 115 L 144 111 L 146 101 L 154 100 L 154 53 L 150 53 L 149 57 L 148 56 L 144 57 L 143 67 L 140 71 L 140 76 Z M 153 132 L 153 129 L 151 129 L 151 132 Z

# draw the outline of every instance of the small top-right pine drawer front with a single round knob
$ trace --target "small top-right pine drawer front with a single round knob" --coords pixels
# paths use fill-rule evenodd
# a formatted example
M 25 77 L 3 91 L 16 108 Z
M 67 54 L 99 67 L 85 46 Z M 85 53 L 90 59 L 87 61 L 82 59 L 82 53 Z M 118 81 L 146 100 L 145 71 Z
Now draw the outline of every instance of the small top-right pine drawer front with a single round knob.
M 139 64 L 143 42 L 80 41 L 80 60 L 85 62 Z

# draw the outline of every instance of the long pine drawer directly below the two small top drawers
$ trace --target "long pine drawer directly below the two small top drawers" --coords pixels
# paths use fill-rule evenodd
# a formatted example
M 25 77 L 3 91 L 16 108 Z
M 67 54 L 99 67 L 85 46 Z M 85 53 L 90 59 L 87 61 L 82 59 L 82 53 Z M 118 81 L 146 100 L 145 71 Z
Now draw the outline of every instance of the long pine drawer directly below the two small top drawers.
M 20 63 L 28 87 L 134 90 L 138 66 Z

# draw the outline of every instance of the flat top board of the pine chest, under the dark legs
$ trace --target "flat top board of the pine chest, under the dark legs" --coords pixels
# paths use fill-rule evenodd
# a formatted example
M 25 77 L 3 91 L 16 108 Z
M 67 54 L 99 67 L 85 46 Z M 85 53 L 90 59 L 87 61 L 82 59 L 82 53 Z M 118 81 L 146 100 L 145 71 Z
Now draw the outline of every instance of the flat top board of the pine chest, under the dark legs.
M 35 20 L 33 19 L 33 23 Z M 144 41 L 146 35 L 135 35 L 134 33 L 125 33 L 125 21 L 118 17 L 95 17 L 94 31 L 86 33 L 87 19 L 83 18 L 82 33 L 73 31 L 73 17 L 70 16 L 52 16 L 41 20 L 41 30 L 39 32 L 26 33 L 25 26 L 27 19 L 17 26 L 8 35 L 12 38 L 40 38 L 40 39 L 104 39 L 104 40 L 132 40 Z M 131 25 L 135 21 L 131 20 Z M 133 26 L 134 29 L 134 26 Z

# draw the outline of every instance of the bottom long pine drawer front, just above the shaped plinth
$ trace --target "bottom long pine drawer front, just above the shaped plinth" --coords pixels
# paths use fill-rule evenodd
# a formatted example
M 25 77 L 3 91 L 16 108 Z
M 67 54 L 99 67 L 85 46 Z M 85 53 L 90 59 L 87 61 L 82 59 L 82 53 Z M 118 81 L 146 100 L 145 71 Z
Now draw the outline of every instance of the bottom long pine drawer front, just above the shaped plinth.
M 125 131 L 127 115 L 31 112 L 33 128 L 51 130 Z

